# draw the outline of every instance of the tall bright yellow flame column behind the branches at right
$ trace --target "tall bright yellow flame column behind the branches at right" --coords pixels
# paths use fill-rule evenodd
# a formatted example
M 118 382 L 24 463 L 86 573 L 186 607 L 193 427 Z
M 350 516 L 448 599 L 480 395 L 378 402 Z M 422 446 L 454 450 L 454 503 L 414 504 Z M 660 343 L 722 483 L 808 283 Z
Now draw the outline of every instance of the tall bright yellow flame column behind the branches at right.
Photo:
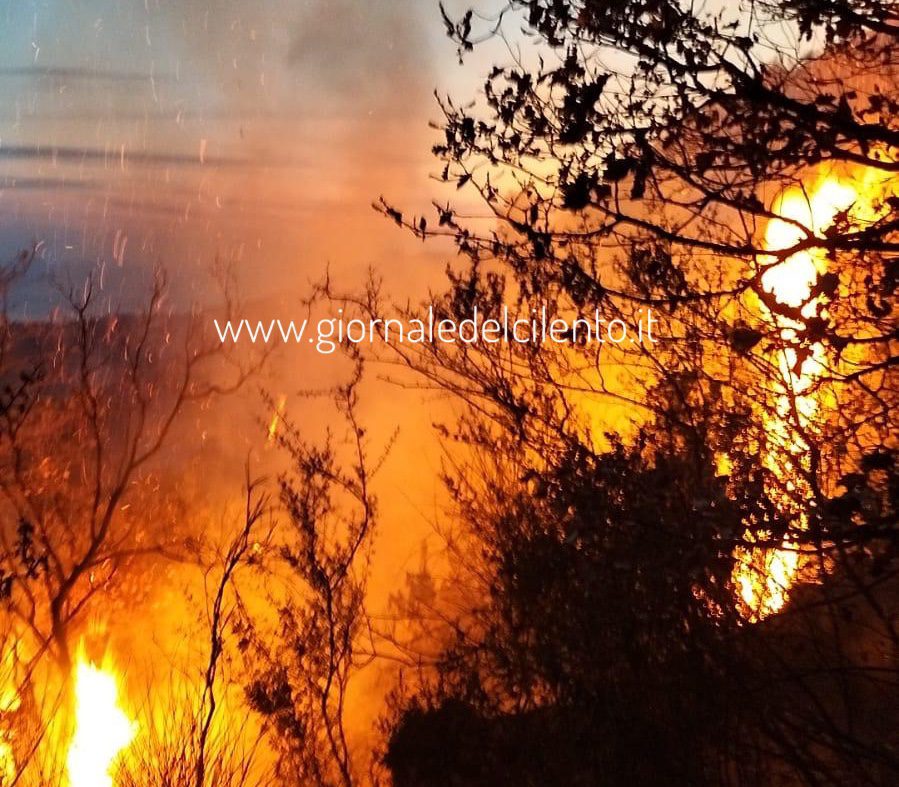
M 764 245 L 770 251 L 780 251 L 795 246 L 806 237 L 806 230 L 820 236 L 838 214 L 850 211 L 860 220 L 876 218 L 874 196 L 883 191 L 883 178 L 874 173 L 850 180 L 829 175 L 819 180 L 809 192 L 803 188 L 790 188 L 775 201 L 773 211 L 782 219 L 773 219 L 765 231 Z M 770 261 L 762 260 L 762 262 Z M 762 286 L 775 298 L 795 308 L 801 307 L 803 317 L 812 317 L 820 306 L 811 297 L 812 286 L 827 268 L 827 260 L 820 250 L 800 251 L 776 265 L 769 267 L 762 276 Z M 770 318 L 770 313 L 762 307 Z M 797 322 L 774 316 L 773 322 L 781 336 L 788 340 L 801 327 Z M 808 425 L 820 409 L 820 401 L 809 392 L 815 379 L 821 374 L 824 348 L 816 344 L 797 369 L 794 350 L 780 351 L 777 365 L 780 371 L 775 393 L 775 410 L 766 418 L 766 430 L 770 439 L 785 449 L 788 462 L 798 465 L 805 453 L 789 424 L 795 413 L 802 426 Z M 775 472 L 778 467 L 773 452 L 762 458 L 765 466 Z M 792 491 L 798 491 L 795 482 L 788 483 Z M 805 527 L 800 519 L 800 527 Z M 739 554 L 734 581 L 740 598 L 746 605 L 750 619 L 759 620 L 779 612 L 787 602 L 790 587 L 801 570 L 799 552 L 785 539 L 777 549 L 747 549 Z

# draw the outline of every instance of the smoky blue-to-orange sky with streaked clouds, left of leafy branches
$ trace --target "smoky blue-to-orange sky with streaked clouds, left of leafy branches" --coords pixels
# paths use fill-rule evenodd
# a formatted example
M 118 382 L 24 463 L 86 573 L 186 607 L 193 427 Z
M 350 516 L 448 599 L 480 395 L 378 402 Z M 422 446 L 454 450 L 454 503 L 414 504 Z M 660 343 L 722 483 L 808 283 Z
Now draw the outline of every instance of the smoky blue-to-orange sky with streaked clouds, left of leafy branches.
M 423 292 L 448 249 L 370 205 L 429 207 L 433 92 L 480 73 L 436 0 L 0 0 L 0 254 L 40 249 L 16 308 L 88 272 L 129 308 L 155 265 L 203 301 L 216 259 L 250 300 L 325 266 Z

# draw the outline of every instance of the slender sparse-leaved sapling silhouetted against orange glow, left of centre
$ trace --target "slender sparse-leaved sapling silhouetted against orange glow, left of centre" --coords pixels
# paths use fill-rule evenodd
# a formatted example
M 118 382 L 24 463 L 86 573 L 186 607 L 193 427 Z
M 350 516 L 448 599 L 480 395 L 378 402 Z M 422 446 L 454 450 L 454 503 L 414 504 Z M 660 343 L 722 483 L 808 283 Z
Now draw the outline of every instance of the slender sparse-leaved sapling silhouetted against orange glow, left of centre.
M 372 459 L 357 415 L 362 370 L 354 357 L 350 379 L 331 392 L 344 439 L 329 430 L 324 443 L 310 442 L 289 420 L 277 433 L 290 471 L 279 479 L 283 521 L 267 567 L 283 590 L 270 594 L 274 630 L 248 621 L 244 641 L 247 699 L 272 732 L 285 784 L 360 782 L 347 697 L 373 660 L 365 599 L 377 522 L 371 483 L 383 462 Z

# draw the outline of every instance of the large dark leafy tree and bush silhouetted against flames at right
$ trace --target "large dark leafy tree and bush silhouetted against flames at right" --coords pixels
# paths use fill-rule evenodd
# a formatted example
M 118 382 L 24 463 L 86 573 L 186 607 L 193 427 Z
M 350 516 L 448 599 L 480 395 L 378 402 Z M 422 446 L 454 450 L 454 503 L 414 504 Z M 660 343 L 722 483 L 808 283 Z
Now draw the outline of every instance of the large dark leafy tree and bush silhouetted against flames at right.
M 451 204 L 436 206 L 436 226 L 380 207 L 422 237 L 452 237 L 468 261 L 436 299 L 438 319 L 470 317 L 475 306 L 495 316 L 511 305 L 522 315 L 547 307 L 569 322 L 597 313 L 633 324 L 651 307 L 664 333 L 654 347 L 397 350 L 471 405 L 454 437 L 479 454 L 498 445 L 512 470 L 492 489 L 518 490 L 487 511 L 481 503 L 476 515 L 463 509 L 471 548 L 486 556 L 492 621 L 464 652 L 486 666 L 449 648 L 453 680 L 443 675 L 437 699 L 424 705 L 462 699 L 478 723 L 522 707 L 565 718 L 571 704 L 552 683 L 527 689 L 543 677 L 535 661 L 548 669 L 556 659 L 579 681 L 578 696 L 593 697 L 595 716 L 576 716 L 590 740 L 598 739 L 590 730 L 614 729 L 609 708 L 639 719 L 647 746 L 655 709 L 675 727 L 689 708 L 699 711 L 699 726 L 672 730 L 654 777 L 626 771 L 633 741 L 612 736 L 596 770 L 580 761 L 569 773 L 587 783 L 584 774 L 603 766 L 605 779 L 622 783 L 654 783 L 665 767 L 690 783 L 888 783 L 899 767 L 895 736 L 873 718 L 892 718 L 899 686 L 899 136 L 890 97 L 899 16 L 892 4 L 789 0 L 712 10 L 533 0 L 502 9 L 489 19 L 444 14 L 460 53 L 508 34 L 515 55 L 490 72 L 482 102 L 442 102 L 444 140 L 434 149 L 443 178 L 473 193 L 491 222 Z M 521 21 L 528 36 L 512 40 Z M 629 412 L 596 417 L 597 403 L 621 401 Z M 597 435 L 597 423 L 623 436 Z M 583 463 L 560 481 L 570 456 Z M 616 475 L 622 456 L 633 463 L 626 477 Z M 557 502 L 541 509 L 547 489 Z M 678 489 L 682 500 L 720 500 L 727 515 L 709 521 L 709 533 L 693 532 L 689 506 L 666 502 Z M 636 516 L 635 495 L 650 501 L 655 521 Z M 563 525 L 577 516 L 601 534 L 601 550 L 579 542 L 580 530 L 568 542 Z M 509 522 L 534 523 L 537 533 Z M 616 540 L 632 528 L 631 540 Z M 705 550 L 666 544 L 671 565 L 648 567 L 652 539 L 665 543 L 658 539 L 672 532 L 708 538 Z M 497 533 L 506 536 L 499 544 Z M 652 539 L 639 537 L 647 533 Z M 569 575 L 568 562 L 579 560 L 587 566 L 576 578 L 587 586 L 621 567 L 598 609 Z M 709 572 L 714 594 L 703 584 Z M 671 603 L 684 598 L 672 587 L 690 587 L 692 613 L 646 610 L 647 576 L 678 578 L 659 596 Z M 528 577 L 525 595 L 512 579 Z M 576 636 L 567 633 L 568 621 L 582 619 Z M 648 650 L 659 663 L 636 679 L 629 664 L 600 669 L 597 652 L 628 653 L 613 632 L 653 626 Z M 471 633 L 458 620 L 453 628 Z M 670 654 L 682 633 L 712 665 L 683 683 L 695 689 L 686 695 L 676 680 L 659 683 L 681 674 Z M 591 681 L 593 695 L 584 689 Z M 740 691 L 704 702 L 700 687 L 722 685 Z M 652 690 L 629 693 L 633 686 Z M 616 690 L 623 706 L 609 701 Z M 401 713 L 396 728 L 407 736 L 409 718 Z M 713 729 L 720 746 L 709 745 Z M 698 770 L 684 771 L 688 763 Z M 403 765 L 394 758 L 394 773 Z

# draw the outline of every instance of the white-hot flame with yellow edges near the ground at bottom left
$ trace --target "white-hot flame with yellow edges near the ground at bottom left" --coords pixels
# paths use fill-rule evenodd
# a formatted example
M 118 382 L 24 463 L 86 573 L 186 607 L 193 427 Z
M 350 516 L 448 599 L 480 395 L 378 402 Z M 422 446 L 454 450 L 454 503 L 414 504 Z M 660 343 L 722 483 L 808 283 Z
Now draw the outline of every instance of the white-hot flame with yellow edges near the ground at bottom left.
M 70 787 L 112 787 L 113 766 L 137 734 L 119 704 L 115 673 L 79 655 L 75 666 L 75 733 L 66 767 Z

